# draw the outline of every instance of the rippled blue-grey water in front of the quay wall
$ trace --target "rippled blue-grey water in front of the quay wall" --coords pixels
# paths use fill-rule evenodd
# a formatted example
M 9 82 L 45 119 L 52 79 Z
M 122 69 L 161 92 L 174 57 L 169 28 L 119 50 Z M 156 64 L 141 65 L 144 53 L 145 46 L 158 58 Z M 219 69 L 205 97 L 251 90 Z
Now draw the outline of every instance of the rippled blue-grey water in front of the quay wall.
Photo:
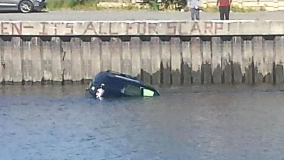
M 103 101 L 85 87 L 0 86 L 0 159 L 284 159 L 283 86 Z

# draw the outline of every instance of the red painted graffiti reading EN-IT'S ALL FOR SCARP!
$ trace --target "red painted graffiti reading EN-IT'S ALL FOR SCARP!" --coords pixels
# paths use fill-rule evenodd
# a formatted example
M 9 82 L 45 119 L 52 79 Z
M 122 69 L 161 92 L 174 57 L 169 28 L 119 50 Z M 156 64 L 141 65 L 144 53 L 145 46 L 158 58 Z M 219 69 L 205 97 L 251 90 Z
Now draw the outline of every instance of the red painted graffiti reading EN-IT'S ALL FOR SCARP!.
M 218 35 L 230 23 L 215 22 L 0 22 L 1 35 Z

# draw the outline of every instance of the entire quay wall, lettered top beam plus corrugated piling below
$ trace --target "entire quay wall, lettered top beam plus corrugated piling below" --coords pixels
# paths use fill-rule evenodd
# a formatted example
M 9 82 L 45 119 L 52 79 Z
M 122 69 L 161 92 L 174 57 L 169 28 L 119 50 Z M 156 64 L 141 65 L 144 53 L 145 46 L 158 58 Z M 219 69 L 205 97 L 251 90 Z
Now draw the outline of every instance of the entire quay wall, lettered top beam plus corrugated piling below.
M 114 70 L 151 84 L 283 83 L 284 21 L 0 22 L 2 84 Z

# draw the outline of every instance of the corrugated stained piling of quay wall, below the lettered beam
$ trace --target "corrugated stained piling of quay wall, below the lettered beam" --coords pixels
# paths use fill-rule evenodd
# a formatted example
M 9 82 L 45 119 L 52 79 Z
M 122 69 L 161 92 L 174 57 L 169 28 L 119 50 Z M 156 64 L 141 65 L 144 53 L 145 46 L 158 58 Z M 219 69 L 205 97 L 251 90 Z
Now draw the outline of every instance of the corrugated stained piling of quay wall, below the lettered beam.
M 274 84 L 284 82 L 283 46 L 282 36 L 2 37 L 0 76 L 74 83 L 112 69 L 155 85 Z

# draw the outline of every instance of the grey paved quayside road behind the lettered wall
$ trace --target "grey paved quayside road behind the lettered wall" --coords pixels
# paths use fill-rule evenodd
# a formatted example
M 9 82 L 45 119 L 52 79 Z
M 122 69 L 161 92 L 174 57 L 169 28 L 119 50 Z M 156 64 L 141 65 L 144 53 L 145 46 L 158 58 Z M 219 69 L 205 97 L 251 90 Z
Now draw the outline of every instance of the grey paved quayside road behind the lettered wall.
M 284 20 L 284 11 L 230 13 L 232 20 Z M 200 20 L 217 20 L 219 13 L 200 13 Z M 50 11 L 37 13 L 0 13 L 0 20 L 190 20 L 190 12 L 146 11 Z

